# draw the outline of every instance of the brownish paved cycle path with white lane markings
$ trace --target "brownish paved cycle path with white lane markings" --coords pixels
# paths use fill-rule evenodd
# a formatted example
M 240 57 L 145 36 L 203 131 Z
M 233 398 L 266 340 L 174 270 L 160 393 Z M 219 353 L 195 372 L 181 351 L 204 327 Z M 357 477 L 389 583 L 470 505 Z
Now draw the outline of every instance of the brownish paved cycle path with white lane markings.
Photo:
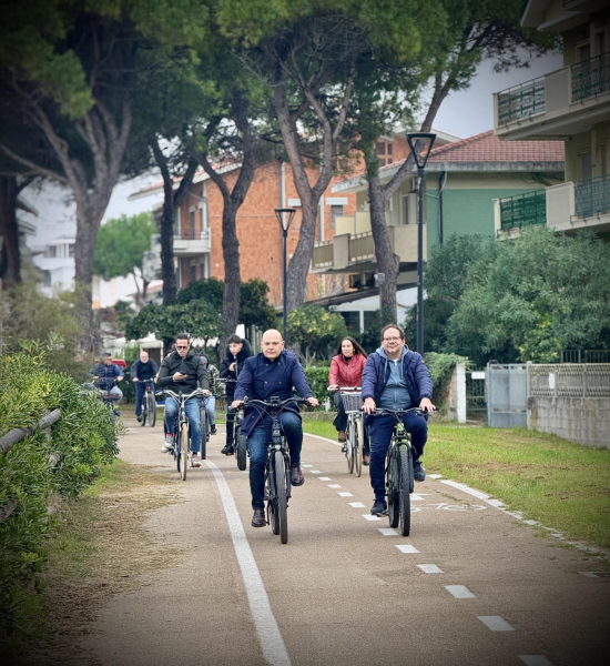
M 582 575 L 599 559 L 482 500 L 428 478 L 401 537 L 370 519 L 368 475 L 349 475 L 336 445 L 306 436 L 306 482 L 281 545 L 250 525 L 247 473 L 220 454 L 223 426 L 209 466 L 183 483 L 160 452 L 160 424 L 128 425 L 121 457 L 157 466 L 181 492 L 148 525 L 185 548 L 104 608 L 87 644 L 103 665 L 608 663 L 610 581 Z

